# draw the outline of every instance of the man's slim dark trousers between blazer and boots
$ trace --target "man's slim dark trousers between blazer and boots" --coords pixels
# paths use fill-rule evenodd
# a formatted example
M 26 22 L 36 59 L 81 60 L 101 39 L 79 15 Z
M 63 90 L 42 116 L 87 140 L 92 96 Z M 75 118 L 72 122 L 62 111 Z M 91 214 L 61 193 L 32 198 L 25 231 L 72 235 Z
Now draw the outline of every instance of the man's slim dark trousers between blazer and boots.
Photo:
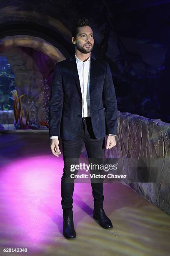
M 76 158 L 79 160 L 83 141 L 85 143 L 85 148 L 87 151 L 88 158 L 98 158 L 103 159 L 104 149 L 105 149 L 105 137 L 96 139 L 93 130 L 91 118 L 82 118 L 82 125 L 80 129 L 80 133 L 78 136 L 72 140 L 64 140 L 62 139 L 62 153 L 64 160 L 64 169 L 61 178 L 61 205 L 62 209 L 65 212 L 69 212 L 72 210 L 73 203 L 73 192 L 74 192 L 74 182 L 67 183 L 66 177 L 67 173 L 70 173 L 70 169 L 67 169 L 66 159 L 67 158 Z M 79 161 L 77 161 L 78 164 Z M 103 207 L 103 182 L 102 183 L 92 183 L 92 196 L 94 198 L 94 206 L 95 207 Z

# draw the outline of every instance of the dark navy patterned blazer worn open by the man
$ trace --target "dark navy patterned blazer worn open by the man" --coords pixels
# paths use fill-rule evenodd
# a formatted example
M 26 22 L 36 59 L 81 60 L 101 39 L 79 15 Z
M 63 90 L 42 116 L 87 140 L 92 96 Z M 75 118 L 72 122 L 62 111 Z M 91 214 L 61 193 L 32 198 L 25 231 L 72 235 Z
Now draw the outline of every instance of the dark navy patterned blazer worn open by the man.
M 117 101 L 107 61 L 90 59 L 90 116 L 97 139 L 117 134 Z M 82 94 L 75 54 L 55 66 L 49 103 L 49 137 L 73 140 L 82 122 Z

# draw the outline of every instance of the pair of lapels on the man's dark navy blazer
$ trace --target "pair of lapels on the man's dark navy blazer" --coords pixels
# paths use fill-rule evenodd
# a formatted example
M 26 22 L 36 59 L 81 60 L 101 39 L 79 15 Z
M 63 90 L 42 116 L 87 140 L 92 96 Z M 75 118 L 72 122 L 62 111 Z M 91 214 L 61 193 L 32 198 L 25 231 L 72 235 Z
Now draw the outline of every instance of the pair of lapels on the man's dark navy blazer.
M 70 70 L 72 73 L 72 76 L 75 80 L 75 84 L 77 86 L 77 90 L 80 94 L 80 97 L 82 98 L 82 93 L 81 93 L 81 87 L 80 87 L 80 80 L 79 80 L 79 76 L 78 76 L 78 70 L 77 70 L 77 64 L 76 64 L 76 59 L 75 59 L 75 54 L 72 55 L 69 59 L 69 66 L 70 66 Z M 97 71 L 97 64 L 96 64 L 96 59 L 95 57 L 93 57 L 91 55 L 91 59 L 90 59 L 90 94 L 92 91 L 92 87 L 94 84 L 94 80 L 95 80 L 95 74 Z

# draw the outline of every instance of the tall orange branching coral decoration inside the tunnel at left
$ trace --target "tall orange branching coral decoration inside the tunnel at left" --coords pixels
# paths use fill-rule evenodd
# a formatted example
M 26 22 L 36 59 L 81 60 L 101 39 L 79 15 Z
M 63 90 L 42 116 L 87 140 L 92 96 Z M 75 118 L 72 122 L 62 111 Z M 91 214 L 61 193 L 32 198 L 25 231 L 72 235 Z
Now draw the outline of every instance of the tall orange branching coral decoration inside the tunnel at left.
M 18 98 L 18 93 L 17 90 L 15 91 L 11 91 L 13 96 L 14 96 L 14 117 L 15 117 L 15 127 L 17 127 L 17 125 L 19 124 L 19 129 L 27 129 L 30 128 L 30 118 L 29 118 L 29 113 L 27 111 L 27 115 L 25 117 L 25 122 L 23 123 L 23 108 L 22 108 L 22 103 L 21 103 L 21 98 L 25 95 L 20 95 L 20 97 Z M 19 120 L 19 122 L 18 122 Z

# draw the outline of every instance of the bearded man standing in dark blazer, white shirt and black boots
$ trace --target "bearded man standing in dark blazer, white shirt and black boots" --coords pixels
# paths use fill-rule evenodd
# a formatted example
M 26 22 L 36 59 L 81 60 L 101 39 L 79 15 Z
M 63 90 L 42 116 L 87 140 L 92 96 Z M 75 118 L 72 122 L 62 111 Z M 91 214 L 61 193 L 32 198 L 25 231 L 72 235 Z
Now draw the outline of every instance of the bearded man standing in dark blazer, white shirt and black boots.
M 116 145 L 117 101 L 112 73 L 105 60 L 91 56 L 94 45 L 92 28 L 87 19 L 72 28 L 75 54 L 56 64 L 49 104 L 49 136 L 52 154 L 59 156 L 58 137 L 62 138 L 64 172 L 61 178 L 63 234 L 76 237 L 72 196 L 74 182 L 67 183 L 66 159 L 79 159 L 83 142 L 88 158 L 102 159 L 106 148 Z M 112 228 L 103 209 L 103 183 L 91 183 L 94 198 L 93 218 L 102 228 Z

